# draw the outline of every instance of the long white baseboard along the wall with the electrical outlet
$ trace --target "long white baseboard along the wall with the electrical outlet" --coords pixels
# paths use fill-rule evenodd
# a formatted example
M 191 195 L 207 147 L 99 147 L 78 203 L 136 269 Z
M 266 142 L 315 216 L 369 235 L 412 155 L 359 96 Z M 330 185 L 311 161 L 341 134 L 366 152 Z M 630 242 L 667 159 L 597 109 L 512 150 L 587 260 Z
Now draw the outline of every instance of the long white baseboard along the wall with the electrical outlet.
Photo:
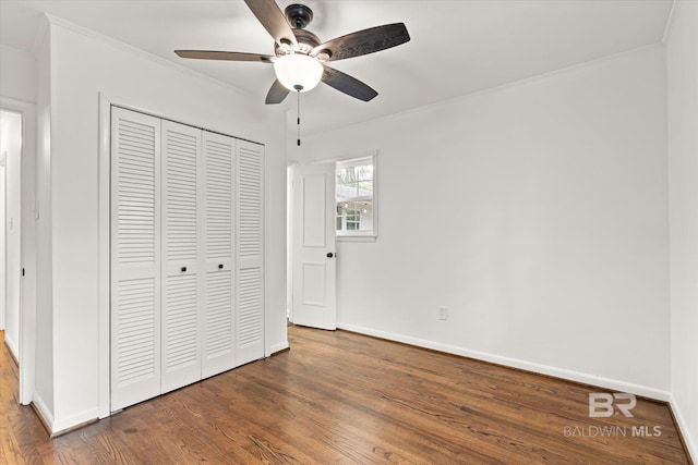
M 394 334 L 385 331 L 377 331 L 370 328 L 363 328 L 354 325 L 338 323 L 339 329 L 353 331 L 361 334 L 373 335 L 375 338 L 387 339 L 389 341 L 401 342 L 405 344 L 416 345 L 418 347 L 431 348 L 433 351 L 445 352 L 447 354 L 460 355 L 477 360 L 490 362 L 507 367 L 519 368 L 527 371 L 533 371 L 541 375 L 563 378 L 570 381 L 581 382 L 585 384 L 598 386 L 600 388 L 612 389 L 618 392 L 628 392 L 658 401 L 669 402 L 669 391 L 650 388 L 647 386 L 635 384 L 631 382 L 621 381 L 611 378 L 603 378 L 594 375 L 583 374 L 579 371 L 568 370 L 564 368 L 551 367 L 547 365 L 534 364 L 531 362 L 520 360 L 517 358 L 504 357 L 501 355 L 490 354 L 486 352 L 473 351 L 470 348 L 458 347 L 455 345 L 442 344 L 438 342 L 426 341 L 423 339 L 411 338 L 402 334 Z

